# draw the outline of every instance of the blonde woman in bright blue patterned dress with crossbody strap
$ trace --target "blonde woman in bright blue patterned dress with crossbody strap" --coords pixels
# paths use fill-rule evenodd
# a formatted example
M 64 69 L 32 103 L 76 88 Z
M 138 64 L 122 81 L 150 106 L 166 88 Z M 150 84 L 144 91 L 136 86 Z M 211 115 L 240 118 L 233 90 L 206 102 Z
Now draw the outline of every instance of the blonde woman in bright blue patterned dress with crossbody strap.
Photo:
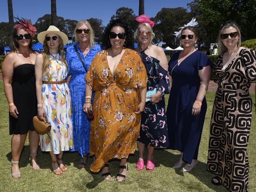
M 81 20 L 74 30 L 76 44 L 67 48 L 67 63 L 69 74 L 70 94 L 72 98 L 72 120 L 73 120 L 73 139 L 74 151 L 82 156 L 78 166 L 84 168 L 89 157 L 89 133 L 90 122 L 83 113 L 85 102 L 85 75 L 91 65 L 91 61 L 98 51 L 100 45 L 94 42 L 94 33 L 87 20 Z M 82 59 L 78 57 L 78 54 Z

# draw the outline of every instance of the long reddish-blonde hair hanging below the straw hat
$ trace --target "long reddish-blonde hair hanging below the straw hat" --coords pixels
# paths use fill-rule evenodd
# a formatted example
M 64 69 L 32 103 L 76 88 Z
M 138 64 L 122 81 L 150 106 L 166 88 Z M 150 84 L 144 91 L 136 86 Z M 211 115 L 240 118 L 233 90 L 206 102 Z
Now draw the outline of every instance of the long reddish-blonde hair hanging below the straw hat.
M 65 60 L 65 54 L 64 54 L 64 49 L 63 49 L 63 40 L 61 39 L 61 37 L 59 35 L 58 35 L 58 39 L 59 39 L 58 52 L 61 53 L 61 61 L 62 61 L 62 63 L 67 67 L 68 65 L 67 65 L 67 61 Z M 48 69 L 48 67 L 49 67 L 49 65 L 51 63 L 51 60 L 50 60 L 50 50 L 49 50 L 49 47 L 47 45 L 47 41 L 46 40 L 44 40 L 43 48 L 44 48 L 44 52 L 43 52 L 43 74 L 45 75 L 48 72 L 47 69 Z

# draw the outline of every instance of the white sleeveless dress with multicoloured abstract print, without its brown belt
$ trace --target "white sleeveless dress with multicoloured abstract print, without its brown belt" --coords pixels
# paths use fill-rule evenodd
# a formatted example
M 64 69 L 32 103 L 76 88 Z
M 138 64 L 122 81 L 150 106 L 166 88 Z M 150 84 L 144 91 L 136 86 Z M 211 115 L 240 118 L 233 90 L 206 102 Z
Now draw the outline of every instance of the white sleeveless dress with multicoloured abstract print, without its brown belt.
M 43 75 L 43 81 L 62 81 L 67 78 L 67 67 L 61 62 L 61 55 L 50 55 L 51 63 L 48 72 Z M 67 83 L 43 84 L 42 103 L 45 109 L 46 121 L 51 124 L 51 130 L 40 135 L 42 151 L 52 151 L 59 154 L 73 148 L 73 132 L 71 117 L 71 97 Z

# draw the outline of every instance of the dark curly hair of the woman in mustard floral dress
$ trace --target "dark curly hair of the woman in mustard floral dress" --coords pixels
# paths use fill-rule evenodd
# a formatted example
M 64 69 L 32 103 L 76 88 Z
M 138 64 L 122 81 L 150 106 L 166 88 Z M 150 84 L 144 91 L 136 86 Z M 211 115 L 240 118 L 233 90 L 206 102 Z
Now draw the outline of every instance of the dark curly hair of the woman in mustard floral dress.
M 129 49 L 134 49 L 134 38 L 133 38 L 132 28 L 130 28 L 130 26 L 128 26 L 128 24 L 121 19 L 111 20 L 109 24 L 106 26 L 104 33 L 102 35 L 102 48 L 107 49 L 111 47 L 111 44 L 109 41 L 109 33 L 113 27 L 117 27 L 117 26 L 124 29 L 124 32 L 126 35 L 124 47 Z

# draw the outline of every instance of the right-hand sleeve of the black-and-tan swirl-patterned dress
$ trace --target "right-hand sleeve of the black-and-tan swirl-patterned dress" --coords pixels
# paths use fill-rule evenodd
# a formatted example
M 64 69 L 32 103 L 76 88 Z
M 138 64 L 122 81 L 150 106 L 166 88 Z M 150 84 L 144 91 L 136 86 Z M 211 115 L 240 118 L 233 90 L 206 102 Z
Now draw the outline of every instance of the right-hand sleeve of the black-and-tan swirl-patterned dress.
M 256 51 L 245 49 L 241 52 L 241 65 L 243 66 L 242 73 L 245 79 L 256 82 Z

